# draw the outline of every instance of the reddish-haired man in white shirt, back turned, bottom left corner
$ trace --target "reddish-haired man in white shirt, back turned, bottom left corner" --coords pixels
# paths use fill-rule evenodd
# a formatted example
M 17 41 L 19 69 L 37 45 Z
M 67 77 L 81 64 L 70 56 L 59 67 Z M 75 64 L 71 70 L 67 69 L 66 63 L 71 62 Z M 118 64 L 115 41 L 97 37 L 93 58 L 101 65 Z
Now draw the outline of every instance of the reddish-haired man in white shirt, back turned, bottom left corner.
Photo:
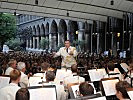
M 15 100 L 16 92 L 20 89 L 18 86 L 20 77 L 20 71 L 14 69 L 10 72 L 11 83 L 0 89 L 0 100 Z

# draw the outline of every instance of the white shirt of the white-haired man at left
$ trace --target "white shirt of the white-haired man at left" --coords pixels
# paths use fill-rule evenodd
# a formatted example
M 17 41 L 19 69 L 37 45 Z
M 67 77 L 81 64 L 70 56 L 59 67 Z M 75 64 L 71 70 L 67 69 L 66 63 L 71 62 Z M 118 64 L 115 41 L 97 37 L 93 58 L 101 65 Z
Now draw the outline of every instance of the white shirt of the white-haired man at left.
M 29 83 L 28 76 L 25 75 L 23 72 L 21 72 L 21 78 L 19 83 L 21 88 L 26 88 L 28 86 Z

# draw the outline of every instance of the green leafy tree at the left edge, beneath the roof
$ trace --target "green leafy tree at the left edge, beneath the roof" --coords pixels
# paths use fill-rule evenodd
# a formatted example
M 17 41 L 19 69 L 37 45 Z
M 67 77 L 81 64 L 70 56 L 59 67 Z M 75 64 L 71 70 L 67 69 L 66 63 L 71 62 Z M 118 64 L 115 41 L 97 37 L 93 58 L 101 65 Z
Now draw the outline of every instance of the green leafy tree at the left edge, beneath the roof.
M 15 37 L 16 20 L 11 14 L 0 13 L 0 46 Z

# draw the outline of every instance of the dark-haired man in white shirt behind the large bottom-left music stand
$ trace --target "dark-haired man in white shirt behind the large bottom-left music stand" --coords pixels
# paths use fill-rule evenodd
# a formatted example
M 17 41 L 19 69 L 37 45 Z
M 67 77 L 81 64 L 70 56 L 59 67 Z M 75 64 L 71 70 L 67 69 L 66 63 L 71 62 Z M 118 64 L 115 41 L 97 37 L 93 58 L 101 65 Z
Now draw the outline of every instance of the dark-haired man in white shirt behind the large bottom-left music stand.
M 46 72 L 46 82 L 44 85 L 55 85 L 56 91 L 57 91 L 57 100 L 66 100 L 66 92 L 64 91 L 63 85 L 57 85 L 54 82 L 55 74 L 53 71 L 47 71 Z

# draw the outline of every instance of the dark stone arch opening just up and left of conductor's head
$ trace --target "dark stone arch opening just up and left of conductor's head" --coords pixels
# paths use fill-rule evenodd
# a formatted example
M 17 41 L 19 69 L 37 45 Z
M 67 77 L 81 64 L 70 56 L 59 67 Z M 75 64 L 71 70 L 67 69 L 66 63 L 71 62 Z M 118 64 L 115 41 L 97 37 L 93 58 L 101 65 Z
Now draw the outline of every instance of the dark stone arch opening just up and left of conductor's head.
M 58 35 L 58 45 L 64 43 L 65 40 L 67 40 L 67 25 L 66 22 L 61 19 L 59 22 L 59 29 L 58 29 L 59 35 Z

